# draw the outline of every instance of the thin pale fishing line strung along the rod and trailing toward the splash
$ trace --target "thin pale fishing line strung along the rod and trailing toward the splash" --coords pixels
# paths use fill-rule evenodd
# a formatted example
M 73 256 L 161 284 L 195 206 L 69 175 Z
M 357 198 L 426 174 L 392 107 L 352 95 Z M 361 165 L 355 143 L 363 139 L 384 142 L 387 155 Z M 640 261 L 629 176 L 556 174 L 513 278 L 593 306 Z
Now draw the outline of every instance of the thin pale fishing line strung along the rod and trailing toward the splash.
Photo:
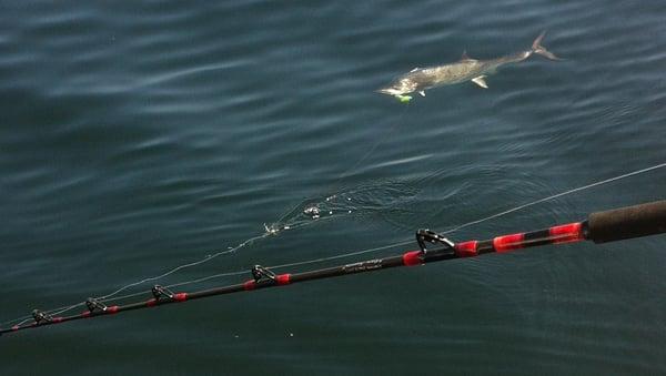
M 526 207 L 541 204 L 541 203 L 546 202 L 546 201 L 551 201 L 551 200 L 554 200 L 554 199 L 557 199 L 557 197 L 569 195 L 569 194 L 573 194 L 573 193 L 576 193 L 576 192 L 589 190 L 589 189 L 593 189 L 593 187 L 596 187 L 596 186 L 609 184 L 609 183 L 613 183 L 613 182 L 616 182 L 616 181 L 619 181 L 619 180 L 624 180 L 624 179 L 627 179 L 627 177 L 630 177 L 630 176 L 635 176 L 635 175 L 638 175 L 638 174 L 647 173 L 647 172 L 650 172 L 650 171 L 654 171 L 654 170 L 657 170 L 657 169 L 662 169 L 662 167 L 665 167 L 665 166 L 666 166 L 666 162 L 659 163 L 659 164 L 655 164 L 655 165 L 652 165 L 649 167 L 645 167 L 645 169 L 640 169 L 640 170 L 635 170 L 635 171 L 632 171 L 632 172 L 628 172 L 628 173 L 625 173 L 625 174 L 620 174 L 620 175 L 616 175 L 616 176 L 613 176 L 613 177 L 609 177 L 609 179 L 596 181 L 596 182 L 593 182 L 593 183 L 589 183 L 589 184 L 586 184 L 586 185 L 583 185 L 583 186 L 579 186 L 579 187 L 575 187 L 575 189 L 572 189 L 572 190 L 568 190 L 568 191 L 564 191 L 564 192 L 561 192 L 561 193 L 557 193 L 557 194 L 553 194 L 553 195 L 549 195 L 549 196 L 544 197 L 544 199 L 532 201 L 532 202 L 528 202 L 526 204 L 514 206 L 514 207 L 508 209 L 508 210 L 503 211 L 503 212 L 498 212 L 498 213 L 495 213 L 495 214 L 492 214 L 492 215 L 488 215 L 488 216 L 485 216 L 485 217 L 482 217 L 482 219 L 478 219 L 478 220 L 475 220 L 475 221 L 471 221 L 471 222 L 457 225 L 457 226 L 455 226 L 453 228 L 450 228 L 450 230 L 446 230 L 446 231 L 442 232 L 442 234 L 451 234 L 451 233 L 457 232 L 457 231 L 460 231 L 462 228 L 465 228 L 465 227 L 468 227 L 468 226 L 472 226 L 472 225 L 475 225 L 475 224 L 480 224 L 480 223 L 483 223 L 483 222 L 486 222 L 486 221 L 491 221 L 491 220 L 494 220 L 494 219 L 507 215 L 509 213 L 514 213 L 514 212 L 524 210 Z M 252 242 L 254 242 L 256 240 L 260 240 L 260 238 L 263 238 L 263 237 L 269 236 L 269 235 L 270 235 L 270 233 L 266 233 L 266 234 L 263 234 L 261 236 L 252 237 L 252 238 L 250 238 L 250 240 L 248 240 L 248 241 L 239 244 L 234 248 L 230 248 L 228 251 L 218 252 L 218 253 L 215 253 L 213 255 L 210 255 L 206 258 L 203 258 L 203 260 L 201 260 L 199 262 L 195 262 L 195 263 L 190 263 L 190 264 L 181 265 L 181 266 L 175 267 L 175 268 L 173 268 L 173 270 L 171 270 L 171 271 L 169 271 L 169 272 L 167 272 L 167 273 L 164 273 L 164 274 L 162 274 L 160 276 L 151 277 L 151 278 L 145 278 L 145 280 L 142 280 L 141 282 L 132 283 L 132 284 L 130 284 L 128 286 L 124 286 L 122 288 L 117 289 L 115 292 L 113 292 L 111 294 L 107 294 L 107 295 L 100 296 L 100 297 L 98 297 L 98 299 L 100 299 L 102 302 L 110 302 L 110 301 L 118 301 L 118 299 L 129 298 L 129 297 L 133 297 L 133 296 L 138 296 L 138 295 L 143 295 L 143 294 L 150 293 L 150 291 L 145 291 L 145 292 L 138 292 L 138 293 L 133 293 L 133 294 L 129 294 L 129 295 L 123 295 L 123 296 L 115 296 L 120 292 L 122 292 L 122 291 L 124 291 L 127 288 L 130 288 L 132 286 L 137 286 L 137 285 L 139 285 L 141 283 L 145 283 L 145 282 L 155 281 L 158 278 L 161 278 L 161 277 L 167 276 L 169 274 L 175 273 L 175 272 L 178 272 L 178 271 L 180 271 L 182 268 L 185 268 L 185 267 L 190 267 L 190 266 L 194 266 L 194 265 L 200 265 L 200 264 L 202 264 L 204 262 L 208 262 L 208 261 L 212 260 L 213 257 L 218 257 L 218 256 L 223 255 L 223 254 L 232 253 L 232 252 L 236 251 L 238 248 L 240 248 L 242 246 L 246 246 L 246 245 L 251 244 Z M 333 261 L 333 260 L 339 260 L 339 258 L 344 258 L 344 257 L 351 257 L 351 256 L 357 256 L 357 255 L 362 255 L 362 254 L 367 254 L 367 253 L 373 253 L 373 252 L 377 252 L 377 251 L 389 250 L 389 248 L 392 248 L 392 247 L 407 245 L 407 244 L 411 244 L 411 243 L 413 243 L 413 240 L 406 240 L 406 241 L 401 241 L 401 242 L 396 242 L 396 243 L 392 243 L 392 244 L 387 244 L 387 245 L 383 245 L 383 246 L 377 246 L 377 247 L 373 247 L 373 248 L 366 248 L 366 250 L 362 250 L 362 251 L 355 251 L 355 252 L 349 252 L 349 253 L 340 253 L 340 254 L 336 254 L 336 255 L 333 255 L 333 256 L 327 256 L 327 257 L 319 257 L 319 258 L 306 260 L 306 261 L 301 261 L 301 262 L 294 262 L 294 263 L 289 263 L 289 264 L 281 264 L 281 265 L 269 266 L 269 268 L 276 270 L 276 268 L 283 268 L 283 267 L 293 267 L 293 266 L 302 266 L 302 265 L 307 265 L 307 264 L 323 263 L 323 262 L 329 262 L 329 261 Z M 192 281 L 185 281 L 185 282 L 175 283 L 175 284 L 169 285 L 167 287 L 184 286 L 184 285 L 200 283 L 200 282 L 203 282 L 203 281 L 213 280 L 213 278 L 226 277 L 226 276 L 235 276 L 235 275 L 243 275 L 243 274 L 246 274 L 246 273 L 248 273 L 248 271 L 244 270 L 244 271 L 239 271 L 239 272 L 214 274 L 214 275 L 201 277 L 201 278 L 198 278 L 198 280 L 192 280 Z M 69 306 L 64 306 L 64 307 L 60 307 L 60 308 L 50 309 L 50 311 L 47 311 L 47 313 L 58 315 L 58 314 L 62 314 L 64 312 L 71 311 L 73 308 L 84 306 L 84 305 L 85 305 L 85 303 L 81 302 L 81 303 L 77 303 L 77 304 L 73 304 L 73 305 L 69 305 Z M 14 319 L 4 322 L 1 325 L 4 326 L 4 325 L 17 323 L 17 322 L 20 322 L 18 325 L 22 325 L 23 323 L 26 323 L 26 322 L 28 322 L 30 319 L 32 319 L 32 316 L 23 316 L 23 317 L 19 317 L 19 318 L 14 318 Z

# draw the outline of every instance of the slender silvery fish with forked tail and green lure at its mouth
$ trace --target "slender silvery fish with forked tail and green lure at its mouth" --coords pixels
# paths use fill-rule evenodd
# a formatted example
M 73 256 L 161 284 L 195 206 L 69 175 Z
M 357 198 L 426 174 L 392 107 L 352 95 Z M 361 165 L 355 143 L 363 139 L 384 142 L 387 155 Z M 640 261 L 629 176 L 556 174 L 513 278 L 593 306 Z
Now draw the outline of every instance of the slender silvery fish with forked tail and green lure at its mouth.
M 483 89 L 488 89 L 485 79 L 488 74 L 495 73 L 502 65 L 518 63 L 535 53 L 548 60 L 562 60 L 542 45 L 545 35 L 546 32 L 543 31 L 536 37 L 529 50 L 496 59 L 477 60 L 470 58 L 466 52 L 463 52 L 461 60 L 454 63 L 430 68 L 414 68 L 408 73 L 394 80 L 391 85 L 381 88 L 376 92 L 393 95 L 402 101 L 405 98 L 411 99 L 411 96 L 406 95 L 410 93 L 417 92 L 422 96 L 425 96 L 427 89 L 467 81 L 472 81 Z

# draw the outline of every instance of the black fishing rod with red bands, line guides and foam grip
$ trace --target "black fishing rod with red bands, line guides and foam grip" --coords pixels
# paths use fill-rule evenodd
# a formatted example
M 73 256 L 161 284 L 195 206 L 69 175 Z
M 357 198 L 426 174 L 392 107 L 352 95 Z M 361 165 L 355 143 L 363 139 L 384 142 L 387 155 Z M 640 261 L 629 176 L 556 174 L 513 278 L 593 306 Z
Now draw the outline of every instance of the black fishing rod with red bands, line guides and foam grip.
M 190 302 L 216 295 L 285 286 L 305 281 L 374 272 L 397 266 L 423 265 L 444 260 L 474 257 L 493 252 L 505 253 L 547 244 L 564 244 L 582 241 L 606 243 L 660 233 L 666 233 L 666 200 L 604 212 L 595 212 L 589 214 L 587 220 L 582 222 L 561 224 L 532 232 L 501 235 L 484 241 L 453 243 L 448 238 L 433 231 L 418 230 L 416 232 L 416 242 L 420 247 L 418 251 L 408 251 L 395 256 L 367 260 L 293 274 L 275 274 L 268 267 L 255 265 L 251 270 L 252 280 L 240 284 L 191 293 L 175 293 L 167 287 L 154 285 L 152 287 L 151 298 L 124 305 L 108 306 L 98 299 L 88 298 L 85 301 L 88 309 L 80 314 L 52 316 L 46 312 L 34 309 L 32 312 L 33 321 L 31 323 L 0 328 L 0 335 L 22 329 L 61 324 L 74 319 L 100 317 L 121 312 L 158 307 L 171 303 Z M 431 244 L 433 245 L 432 250 L 430 248 Z

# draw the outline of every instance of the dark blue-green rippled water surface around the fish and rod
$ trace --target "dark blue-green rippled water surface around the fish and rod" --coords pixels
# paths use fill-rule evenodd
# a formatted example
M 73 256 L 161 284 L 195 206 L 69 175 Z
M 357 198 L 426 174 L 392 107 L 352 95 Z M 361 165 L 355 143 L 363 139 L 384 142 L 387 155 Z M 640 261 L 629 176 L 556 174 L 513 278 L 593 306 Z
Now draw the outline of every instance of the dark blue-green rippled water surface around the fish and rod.
M 160 282 L 407 241 L 666 160 L 660 2 L 0 8 L 2 322 L 202 260 L 264 223 L 293 228 Z M 565 61 L 535 57 L 488 90 L 408 105 L 373 92 L 463 50 L 521 51 L 542 30 Z M 664 176 L 452 237 L 664 199 Z M 310 206 L 320 220 L 301 214 Z M 2 337 L 2 373 L 665 373 L 664 242 L 525 250 L 27 331 Z

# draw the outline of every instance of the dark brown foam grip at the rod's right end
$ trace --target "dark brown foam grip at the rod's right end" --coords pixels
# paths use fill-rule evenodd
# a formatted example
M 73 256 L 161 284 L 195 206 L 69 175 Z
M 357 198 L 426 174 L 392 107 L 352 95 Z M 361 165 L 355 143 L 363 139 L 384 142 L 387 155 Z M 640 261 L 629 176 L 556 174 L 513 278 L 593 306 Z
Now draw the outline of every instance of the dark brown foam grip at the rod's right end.
M 595 243 L 655 235 L 666 232 L 666 200 L 592 213 L 587 238 Z

